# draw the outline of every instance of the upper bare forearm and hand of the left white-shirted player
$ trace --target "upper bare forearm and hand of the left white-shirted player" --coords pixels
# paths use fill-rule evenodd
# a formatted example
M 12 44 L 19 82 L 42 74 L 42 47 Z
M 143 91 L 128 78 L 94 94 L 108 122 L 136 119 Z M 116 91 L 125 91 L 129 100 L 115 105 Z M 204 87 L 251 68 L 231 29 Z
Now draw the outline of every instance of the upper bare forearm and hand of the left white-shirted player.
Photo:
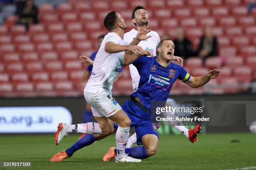
M 105 44 L 105 51 L 108 53 L 117 53 L 121 51 L 129 51 L 131 53 L 136 54 L 138 51 L 142 51 L 143 49 L 138 45 L 118 45 L 114 42 L 107 42 Z

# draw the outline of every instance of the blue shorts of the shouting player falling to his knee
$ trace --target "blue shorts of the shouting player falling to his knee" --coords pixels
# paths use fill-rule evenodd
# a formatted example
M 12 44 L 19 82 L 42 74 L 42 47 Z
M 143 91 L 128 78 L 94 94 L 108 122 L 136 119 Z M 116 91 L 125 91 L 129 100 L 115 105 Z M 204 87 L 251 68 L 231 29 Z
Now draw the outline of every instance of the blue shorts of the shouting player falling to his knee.
M 131 119 L 131 127 L 135 128 L 138 145 L 143 145 L 142 137 L 144 135 L 154 134 L 157 136 L 157 138 L 159 138 L 157 133 L 157 123 L 152 122 L 151 113 L 142 110 L 131 100 L 126 101 L 121 107 Z M 114 128 L 118 128 L 117 123 L 114 123 Z

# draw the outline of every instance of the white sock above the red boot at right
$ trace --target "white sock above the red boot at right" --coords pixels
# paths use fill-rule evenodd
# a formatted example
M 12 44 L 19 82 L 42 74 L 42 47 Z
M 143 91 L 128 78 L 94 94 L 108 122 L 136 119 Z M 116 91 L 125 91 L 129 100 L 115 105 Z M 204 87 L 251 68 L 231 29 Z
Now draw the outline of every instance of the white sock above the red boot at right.
M 163 113 L 164 117 L 173 117 L 174 121 L 167 121 L 169 125 L 177 129 L 180 133 L 185 135 L 187 138 L 189 137 L 188 129 L 183 125 L 181 121 L 175 121 L 176 120 L 176 115 L 170 113 L 170 112 L 164 112 Z

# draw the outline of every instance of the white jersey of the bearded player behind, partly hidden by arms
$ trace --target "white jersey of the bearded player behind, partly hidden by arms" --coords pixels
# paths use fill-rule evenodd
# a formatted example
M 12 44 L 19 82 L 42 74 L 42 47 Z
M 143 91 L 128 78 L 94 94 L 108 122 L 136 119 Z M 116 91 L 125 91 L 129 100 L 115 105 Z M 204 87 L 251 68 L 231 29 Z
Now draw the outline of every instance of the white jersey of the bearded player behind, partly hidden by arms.
M 123 37 L 123 45 L 129 45 L 133 41 L 133 39 L 136 37 L 137 34 L 138 34 L 138 31 L 135 30 L 134 28 L 131 31 L 126 32 Z M 160 42 L 160 37 L 158 33 L 155 31 L 148 32 L 147 36 L 148 35 L 151 35 L 151 37 L 146 40 L 140 41 L 138 45 L 141 46 L 143 50 L 150 50 L 153 53 L 153 55 L 156 56 L 156 48 L 158 47 L 158 44 Z M 133 82 L 133 90 L 136 91 L 138 89 L 140 75 L 138 73 L 138 70 L 133 64 L 130 64 L 129 68 L 130 68 L 130 74 Z

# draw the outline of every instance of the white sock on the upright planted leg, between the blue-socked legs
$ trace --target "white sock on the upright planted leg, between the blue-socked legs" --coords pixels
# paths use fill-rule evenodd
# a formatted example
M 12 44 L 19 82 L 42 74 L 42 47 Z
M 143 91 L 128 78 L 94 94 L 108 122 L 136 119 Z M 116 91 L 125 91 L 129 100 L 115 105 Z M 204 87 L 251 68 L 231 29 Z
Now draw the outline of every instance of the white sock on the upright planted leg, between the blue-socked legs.
M 117 148 L 117 158 L 120 160 L 125 157 L 125 147 L 129 138 L 129 128 L 121 128 L 118 126 L 115 134 L 116 148 Z

